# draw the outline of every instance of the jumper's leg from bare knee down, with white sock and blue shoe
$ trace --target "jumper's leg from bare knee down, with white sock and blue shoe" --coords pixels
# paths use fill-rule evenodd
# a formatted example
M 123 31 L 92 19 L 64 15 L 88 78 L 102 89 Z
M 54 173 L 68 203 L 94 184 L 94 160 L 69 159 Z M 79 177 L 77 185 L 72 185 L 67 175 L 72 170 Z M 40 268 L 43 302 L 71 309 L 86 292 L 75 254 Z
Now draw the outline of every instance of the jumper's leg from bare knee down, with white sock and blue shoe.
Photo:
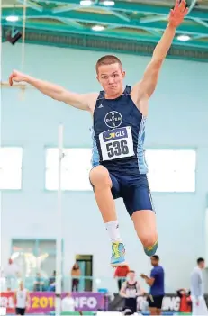
M 125 249 L 120 237 L 115 203 L 111 192 L 113 184 L 109 172 L 104 166 L 97 166 L 91 170 L 89 176 L 92 185 L 94 185 L 96 203 L 112 241 L 111 265 L 123 266 L 126 264 Z

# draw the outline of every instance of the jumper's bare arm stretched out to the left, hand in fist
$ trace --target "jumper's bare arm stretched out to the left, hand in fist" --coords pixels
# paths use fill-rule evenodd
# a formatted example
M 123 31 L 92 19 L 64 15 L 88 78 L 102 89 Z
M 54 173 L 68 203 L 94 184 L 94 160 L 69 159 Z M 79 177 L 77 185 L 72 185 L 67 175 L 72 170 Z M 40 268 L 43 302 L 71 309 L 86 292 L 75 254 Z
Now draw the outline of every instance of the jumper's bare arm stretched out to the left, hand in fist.
M 50 82 L 43 81 L 14 70 L 9 77 L 9 84 L 13 86 L 13 82 L 26 82 L 36 89 L 41 91 L 42 94 L 48 95 L 51 98 L 62 101 L 66 104 L 70 104 L 80 110 L 90 110 L 90 104 L 92 98 L 95 98 L 95 94 L 77 94 L 70 92 L 62 86 L 51 84 Z

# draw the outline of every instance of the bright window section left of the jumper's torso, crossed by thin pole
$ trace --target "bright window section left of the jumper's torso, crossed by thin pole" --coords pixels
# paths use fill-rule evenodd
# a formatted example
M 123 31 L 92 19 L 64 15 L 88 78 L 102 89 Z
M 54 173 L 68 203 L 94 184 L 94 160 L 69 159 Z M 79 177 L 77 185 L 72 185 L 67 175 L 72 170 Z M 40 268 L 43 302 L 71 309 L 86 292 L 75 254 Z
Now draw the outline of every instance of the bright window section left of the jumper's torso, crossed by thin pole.
M 92 149 L 64 149 L 61 166 L 61 188 L 71 191 L 90 191 L 89 171 Z M 59 149 L 47 149 L 46 189 L 58 190 Z

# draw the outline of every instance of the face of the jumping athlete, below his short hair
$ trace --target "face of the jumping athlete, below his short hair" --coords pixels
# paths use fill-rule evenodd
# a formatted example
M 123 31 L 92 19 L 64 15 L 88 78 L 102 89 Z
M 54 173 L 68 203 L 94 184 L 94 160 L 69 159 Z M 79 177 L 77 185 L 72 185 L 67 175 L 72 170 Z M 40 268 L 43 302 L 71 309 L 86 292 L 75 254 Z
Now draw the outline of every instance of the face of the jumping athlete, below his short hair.
M 118 63 L 112 65 L 101 65 L 98 68 L 97 80 L 103 86 L 106 95 L 115 97 L 122 94 L 122 81 L 125 72 Z

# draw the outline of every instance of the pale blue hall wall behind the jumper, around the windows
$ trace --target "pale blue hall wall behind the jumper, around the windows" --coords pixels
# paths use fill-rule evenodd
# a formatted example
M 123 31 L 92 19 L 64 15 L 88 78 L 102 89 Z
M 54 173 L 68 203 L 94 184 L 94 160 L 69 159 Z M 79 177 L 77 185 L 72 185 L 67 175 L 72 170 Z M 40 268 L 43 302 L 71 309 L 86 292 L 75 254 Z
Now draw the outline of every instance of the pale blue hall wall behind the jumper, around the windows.
M 21 46 L 3 44 L 3 80 L 20 69 Z M 103 54 L 26 45 L 24 71 L 76 92 L 97 91 L 95 61 Z M 149 58 L 120 56 L 127 82 L 140 79 Z M 158 255 L 166 269 L 168 289 L 189 286 L 190 271 L 204 256 L 205 194 L 208 191 L 208 64 L 167 60 L 150 102 L 147 147 L 196 148 L 194 194 L 153 194 L 158 210 Z M 2 91 L 2 142 L 23 146 L 23 190 L 2 194 L 3 263 L 12 238 L 54 238 L 57 194 L 44 190 L 44 147 L 57 145 L 58 125 L 65 125 L 66 147 L 90 147 L 91 118 L 66 104 L 27 90 Z M 145 257 L 122 201 L 116 202 L 127 259 L 138 273 L 149 273 Z M 95 256 L 94 274 L 111 276 L 110 243 L 92 192 L 63 194 L 65 272 L 76 254 Z M 86 224 L 87 222 L 87 224 Z M 96 240 L 96 241 L 95 241 Z M 176 268 L 177 266 L 177 268 Z

